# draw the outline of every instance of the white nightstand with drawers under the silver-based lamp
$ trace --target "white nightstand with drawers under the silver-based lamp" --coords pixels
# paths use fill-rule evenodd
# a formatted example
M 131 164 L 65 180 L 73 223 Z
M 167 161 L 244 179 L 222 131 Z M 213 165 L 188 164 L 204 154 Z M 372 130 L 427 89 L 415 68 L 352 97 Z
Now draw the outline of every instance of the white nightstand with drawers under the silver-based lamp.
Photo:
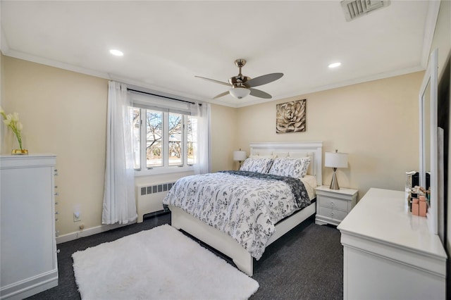
M 357 203 L 357 189 L 316 187 L 316 217 L 319 225 L 338 225 Z

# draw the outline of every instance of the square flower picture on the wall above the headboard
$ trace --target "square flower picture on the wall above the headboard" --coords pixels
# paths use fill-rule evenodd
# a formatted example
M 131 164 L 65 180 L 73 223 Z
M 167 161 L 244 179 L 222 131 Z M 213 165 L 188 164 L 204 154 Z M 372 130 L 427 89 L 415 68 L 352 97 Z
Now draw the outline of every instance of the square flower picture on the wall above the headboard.
M 276 133 L 304 132 L 306 99 L 276 104 Z

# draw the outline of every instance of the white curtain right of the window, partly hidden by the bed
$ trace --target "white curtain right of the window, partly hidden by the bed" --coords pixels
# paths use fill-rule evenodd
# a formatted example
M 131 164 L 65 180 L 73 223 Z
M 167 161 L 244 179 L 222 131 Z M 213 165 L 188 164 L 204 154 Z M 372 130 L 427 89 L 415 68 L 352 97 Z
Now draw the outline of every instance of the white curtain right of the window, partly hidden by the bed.
M 197 117 L 197 163 L 195 174 L 210 173 L 210 104 L 192 104 L 191 115 Z

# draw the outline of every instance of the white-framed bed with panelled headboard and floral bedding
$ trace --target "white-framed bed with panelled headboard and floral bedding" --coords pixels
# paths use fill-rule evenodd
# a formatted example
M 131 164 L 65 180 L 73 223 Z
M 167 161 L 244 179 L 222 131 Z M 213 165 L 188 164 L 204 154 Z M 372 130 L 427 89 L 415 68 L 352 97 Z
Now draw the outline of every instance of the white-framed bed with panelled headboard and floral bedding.
M 316 212 L 314 188 L 322 184 L 322 142 L 252 143 L 249 146 L 249 157 L 256 158 L 254 161 L 261 162 L 266 161 L 264 158 L 271 158 L 273 165 L 269 165 L 266 170 L 262 169 L 261 174 L 225 171 L 180 178 L 163 200 L 163 204 L 168 205 L 171 210 L 173 227 L 189 233 L 229 256 L 237 268 L 252 276 L 254 258 L 259 259 L 266 246 Z M 301 185 L 297 183 L 299 180 L 292 180 L 292 178 L 283 178 L 282 181 L 274 180 L 273 176 L 277 177 L 277 175 L 266 174 L 274 173 L 268 170 L 276 167 L 276 159 L 280 162 L 284 159 L 293 161 L 295 158 L 296 161 L 309 161 L 308 169 L 304 170 L 307 174 L 302 174 Z M 246 163 L 243 163 L 242 167 L 245 167 Z M 218 182 L 217 185 L 220 185 L 221 181 L 226 184 L 214 187 L 216 183 L 211 183 Z M 204 184 L 203 187 L 202 184 Z M 249 194 L 243 194 L 245 192 L 242 192 L 242 189 L 247 191 L 245 188 L 248 185 L 258 186 L 258 190 L 252 189 Z M 188 190 L 190 192 L 183 194 Z M 223 197 L 221 201 L 218 201 L 218 194 Z M 235 194 L 237 200 L 232 194 Z M 251 196 L 257 199 L 255 202 L 257 204 L 253 201 L 245 201 L 246 197 Z M 214 197 L 216 197 L 215 201 L 209 201 Z M 274 197 L 278 199 L 274 202 L 268 200 Z M 282 203 L 282 201 L 287 202 Z M 211 204 L 212 202 L 214 204 Z M 278 208 L 274 206 L 269 209 L 268 206 L 271 205 L 267 205 L 268 203 L 282 204 Z M 242 206 L 250 206 L 250 208 L 247 207 L 247 211 L 252 211 L 252 214 L 256 215 L 256 218 L 250 221 L 254 225 L 254 230 L 251 228 L 247 230 L 245 226 L 242 226 L 252 215 L 237 213 L 233 218 L 230 217 Z M 221 218 L 226 216 L 230 218 L 230 221 L 222 222 Z M 240 224 L 237 225 L 237 222 Z

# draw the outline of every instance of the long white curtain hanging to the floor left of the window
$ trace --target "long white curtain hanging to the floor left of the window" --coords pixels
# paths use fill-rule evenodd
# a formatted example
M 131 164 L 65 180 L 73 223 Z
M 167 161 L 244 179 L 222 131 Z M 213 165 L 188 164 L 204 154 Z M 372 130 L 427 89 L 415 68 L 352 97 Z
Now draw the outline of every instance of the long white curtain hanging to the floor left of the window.
M 127 87 L 110 81 L 102 224 L 127 224 L 137 218 L 132 127 L 128 106 Z

